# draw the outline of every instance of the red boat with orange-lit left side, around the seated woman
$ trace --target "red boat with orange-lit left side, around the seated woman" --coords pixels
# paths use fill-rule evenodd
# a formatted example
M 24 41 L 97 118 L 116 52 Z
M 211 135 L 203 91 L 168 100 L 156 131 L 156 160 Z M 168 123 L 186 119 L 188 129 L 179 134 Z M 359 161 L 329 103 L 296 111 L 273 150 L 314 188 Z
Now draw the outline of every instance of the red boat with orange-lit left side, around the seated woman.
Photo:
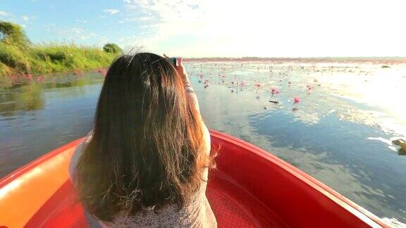
M 87 227 L 68 163 L 82 139 L 0 180 L 0 227 Z M 305 172 L 226 134 L 207 197 L 219 227 L 389 227 L 379 217 Z

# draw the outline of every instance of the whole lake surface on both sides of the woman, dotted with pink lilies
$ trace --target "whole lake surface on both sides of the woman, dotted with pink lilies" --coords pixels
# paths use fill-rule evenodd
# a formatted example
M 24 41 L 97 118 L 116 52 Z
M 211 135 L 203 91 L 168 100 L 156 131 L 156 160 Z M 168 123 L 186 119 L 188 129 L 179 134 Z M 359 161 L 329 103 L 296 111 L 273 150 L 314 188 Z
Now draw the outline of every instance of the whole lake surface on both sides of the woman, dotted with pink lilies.
M 186 67 L 209 128 L 264 148 L 379 217 L 406 222 L 406 156 L 391 143 L 406 137 L 406 65 Z M 0 177 L 87 134 L 103 80 L 89 72 L 0 81 Z

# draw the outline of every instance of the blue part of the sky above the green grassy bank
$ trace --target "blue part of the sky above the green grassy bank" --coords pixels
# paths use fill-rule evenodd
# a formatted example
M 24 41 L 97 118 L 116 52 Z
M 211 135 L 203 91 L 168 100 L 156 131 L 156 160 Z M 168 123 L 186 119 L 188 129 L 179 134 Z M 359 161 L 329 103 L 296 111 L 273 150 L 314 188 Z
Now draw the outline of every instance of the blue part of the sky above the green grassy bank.
M 90 45 L 117 42 L 140 32 L 138 24 L 119 24 L 117 8 L 121 6 L 121 1 L 0 0 L 0 11 L 7 14 L 1 20 L 24 25 L 32 42 Z

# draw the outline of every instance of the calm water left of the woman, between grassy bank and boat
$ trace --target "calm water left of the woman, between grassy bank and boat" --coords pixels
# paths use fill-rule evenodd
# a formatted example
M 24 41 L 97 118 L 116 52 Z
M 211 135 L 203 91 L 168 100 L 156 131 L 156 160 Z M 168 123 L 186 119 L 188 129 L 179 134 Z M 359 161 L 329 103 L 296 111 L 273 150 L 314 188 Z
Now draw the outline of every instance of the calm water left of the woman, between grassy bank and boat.
M 2 83 L 0 176 L 86 134 L 103 80 L 88 73 Z

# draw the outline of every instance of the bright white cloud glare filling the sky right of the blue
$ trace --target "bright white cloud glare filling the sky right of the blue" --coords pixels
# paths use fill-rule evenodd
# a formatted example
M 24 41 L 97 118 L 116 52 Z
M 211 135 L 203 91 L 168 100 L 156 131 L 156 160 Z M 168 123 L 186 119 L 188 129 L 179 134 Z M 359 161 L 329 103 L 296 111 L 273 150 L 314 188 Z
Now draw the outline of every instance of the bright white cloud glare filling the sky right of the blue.
M 406 32 L 401 29 L 406 1 L 124 3 L 121 22 L 144 26 L 126 42 L 150 51 L 184 56 L 406 56 Z M 187 44 L 168 45 L 174 40 Z

